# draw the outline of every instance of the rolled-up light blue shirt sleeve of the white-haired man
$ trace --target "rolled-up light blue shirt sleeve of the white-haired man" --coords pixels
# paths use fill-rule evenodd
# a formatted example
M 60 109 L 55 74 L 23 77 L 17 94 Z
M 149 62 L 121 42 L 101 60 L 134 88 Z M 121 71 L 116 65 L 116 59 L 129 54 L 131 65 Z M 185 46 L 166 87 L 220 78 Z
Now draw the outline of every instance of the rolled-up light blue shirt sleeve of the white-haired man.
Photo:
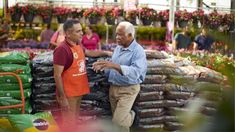
M 123 76 L 126 76 L 130 82 L 135 82 L 137 79 L 144 80 L 147 71 L 147 60 L 144 51 L 136 53 L 132 59 L 130 66 L 121 65 Z

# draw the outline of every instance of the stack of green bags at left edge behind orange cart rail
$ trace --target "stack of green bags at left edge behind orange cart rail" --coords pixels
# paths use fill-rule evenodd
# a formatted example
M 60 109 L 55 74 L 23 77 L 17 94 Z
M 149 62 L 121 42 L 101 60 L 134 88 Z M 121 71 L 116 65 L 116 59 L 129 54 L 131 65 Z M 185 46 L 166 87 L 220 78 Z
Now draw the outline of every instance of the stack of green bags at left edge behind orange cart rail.
M 12 72 L 17 74 L 23 85 L 25 113 L 31 113 L 29 103 L 31 95 L 31 68 L 29 55 L 24 52 L 0 53 L 0 72 Z M 21 92 L 18 80 L 11 75 L 0 76 L 0 106 L 21 104 Z M 19 114 L 22 108 L 0 109 L 0 114 Z

